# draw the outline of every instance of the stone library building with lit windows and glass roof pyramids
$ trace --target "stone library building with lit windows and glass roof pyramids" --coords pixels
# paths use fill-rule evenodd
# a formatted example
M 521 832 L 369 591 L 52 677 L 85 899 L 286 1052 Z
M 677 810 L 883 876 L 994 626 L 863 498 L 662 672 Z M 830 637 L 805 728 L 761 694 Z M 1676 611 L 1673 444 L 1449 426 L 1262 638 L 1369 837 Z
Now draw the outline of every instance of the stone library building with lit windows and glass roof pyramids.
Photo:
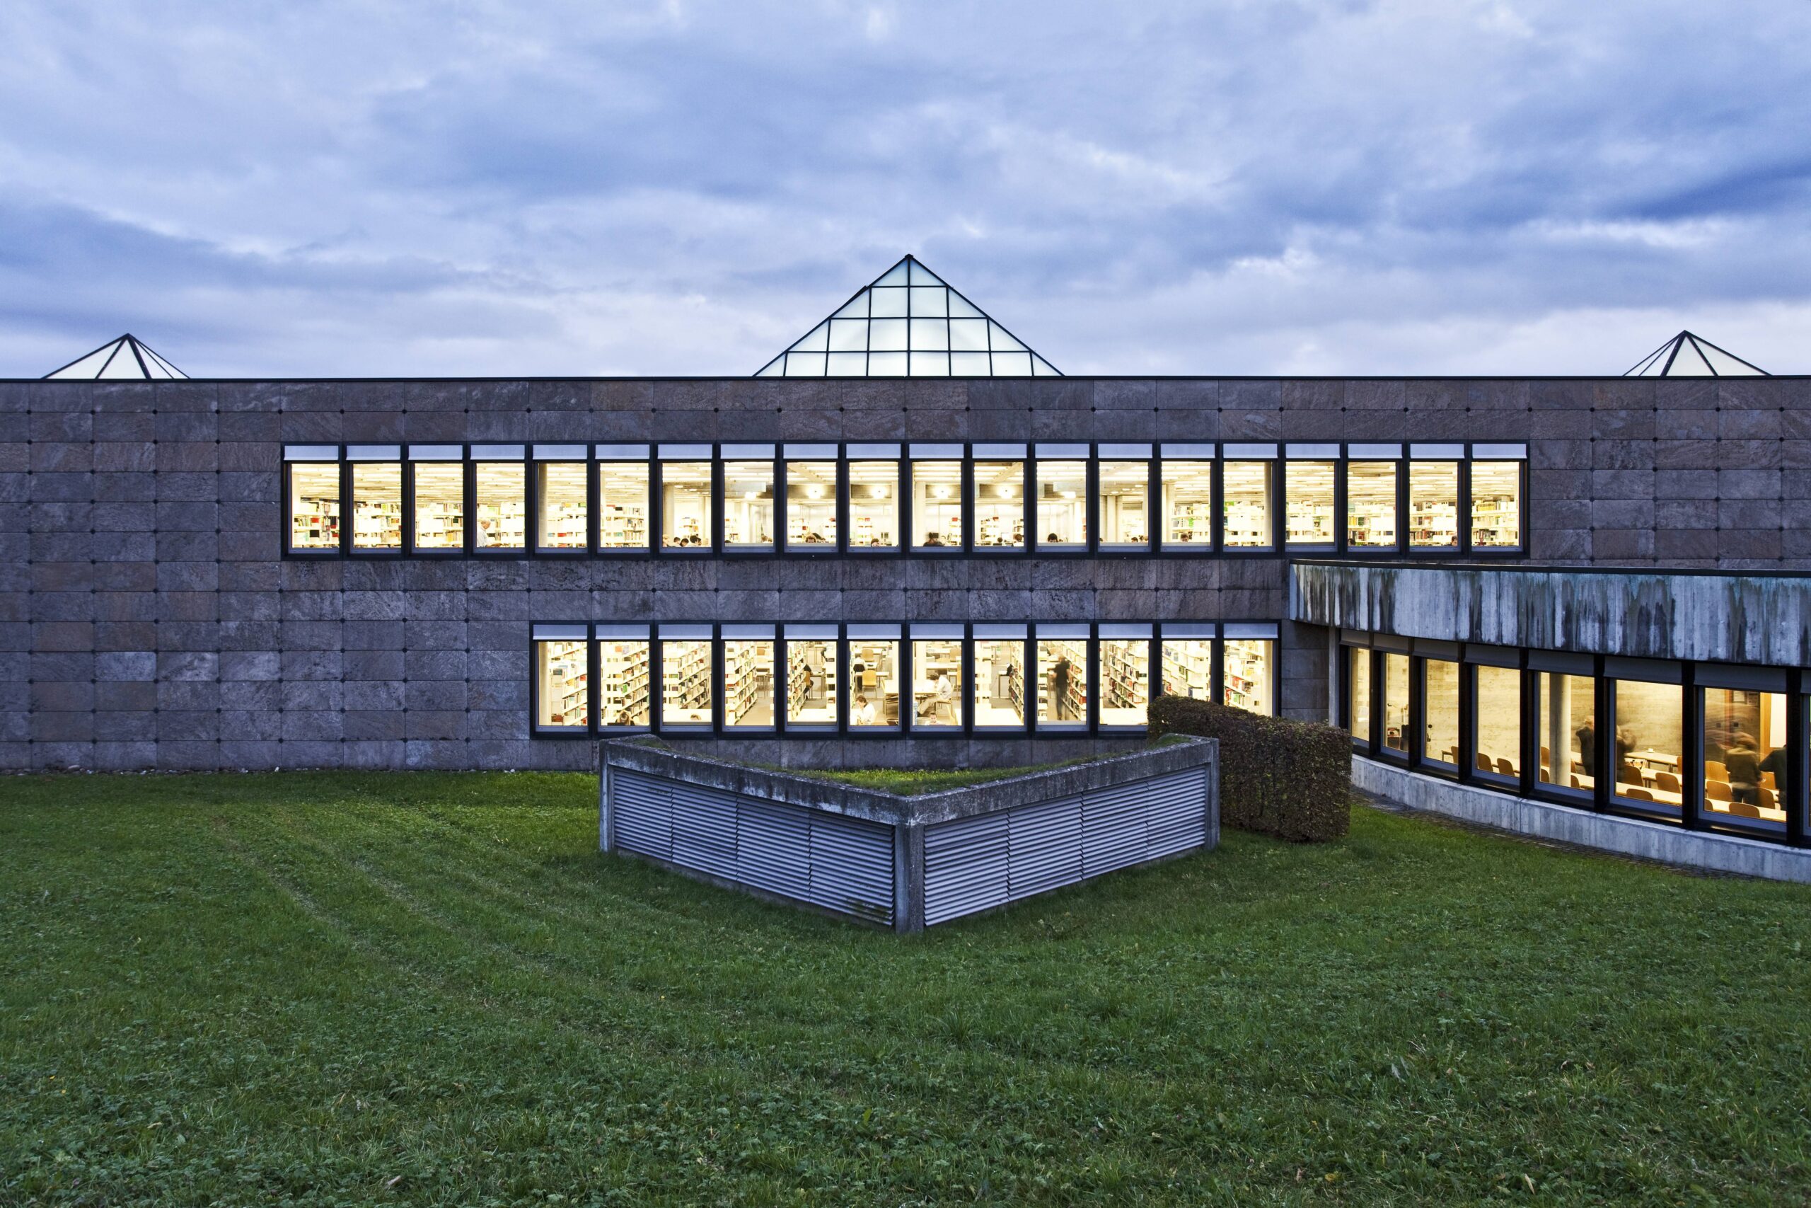
M 1067 377 L 915 257 L 826 310 L 741 379 L 0 382 L 0 766 L 1030 764 L 1175 694 L 1807 846 L 1811 380 Z

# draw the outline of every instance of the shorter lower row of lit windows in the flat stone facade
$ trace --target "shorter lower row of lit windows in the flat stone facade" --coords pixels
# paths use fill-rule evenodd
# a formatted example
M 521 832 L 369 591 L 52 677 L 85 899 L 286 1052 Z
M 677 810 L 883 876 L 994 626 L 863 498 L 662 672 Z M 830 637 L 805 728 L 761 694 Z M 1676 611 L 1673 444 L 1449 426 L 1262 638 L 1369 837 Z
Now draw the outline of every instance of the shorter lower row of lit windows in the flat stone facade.
M 1273 714 L 1275 625 L 534 625 L 536 735 L 1141 732 L 1161 692 Z

